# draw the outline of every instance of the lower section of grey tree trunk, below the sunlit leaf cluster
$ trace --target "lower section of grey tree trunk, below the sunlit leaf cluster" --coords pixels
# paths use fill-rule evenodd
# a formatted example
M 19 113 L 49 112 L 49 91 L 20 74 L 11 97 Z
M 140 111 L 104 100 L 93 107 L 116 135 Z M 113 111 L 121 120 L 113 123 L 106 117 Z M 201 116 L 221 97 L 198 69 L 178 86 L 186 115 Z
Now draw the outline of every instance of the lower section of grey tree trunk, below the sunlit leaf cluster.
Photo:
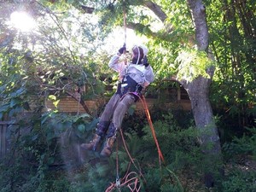
M 204 182 L 210 188 L 214 184 L 214 174 L 220 173 L 222 158 L 218 130 L 209 102 L 209 79 L 199 77 L 186 84 L 185 89 L 191 101 L 195 125 L 200 131 L 198 139 L 204 154 Z

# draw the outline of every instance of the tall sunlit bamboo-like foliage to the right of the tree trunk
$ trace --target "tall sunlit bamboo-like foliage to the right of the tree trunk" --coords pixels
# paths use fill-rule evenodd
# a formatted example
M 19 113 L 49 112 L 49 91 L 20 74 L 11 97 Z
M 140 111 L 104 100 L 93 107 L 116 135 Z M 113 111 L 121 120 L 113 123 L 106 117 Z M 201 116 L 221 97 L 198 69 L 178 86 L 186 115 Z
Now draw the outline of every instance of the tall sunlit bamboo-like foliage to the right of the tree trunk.
M 230 7 L 233 9 L 226 9 Z M 238 14 L 241 9 L 247 15 Z M 255 39 L 251 33 L 255 17 L 249 16 L 255 15 L 253 9 L 252 0 L 242 8 L 234 2 L 214 1 L 208 5 L 210 44 L 217 61 L 211 100 L 213 107 L 229 109 L 223 113 L 223 119 L 232 119 L 233 131 L 254 126 L 252 119 L 256 114 L 255 58 L 252 56 L 255 55 Z M 229 131 L 230 125 L 226 129 Z

